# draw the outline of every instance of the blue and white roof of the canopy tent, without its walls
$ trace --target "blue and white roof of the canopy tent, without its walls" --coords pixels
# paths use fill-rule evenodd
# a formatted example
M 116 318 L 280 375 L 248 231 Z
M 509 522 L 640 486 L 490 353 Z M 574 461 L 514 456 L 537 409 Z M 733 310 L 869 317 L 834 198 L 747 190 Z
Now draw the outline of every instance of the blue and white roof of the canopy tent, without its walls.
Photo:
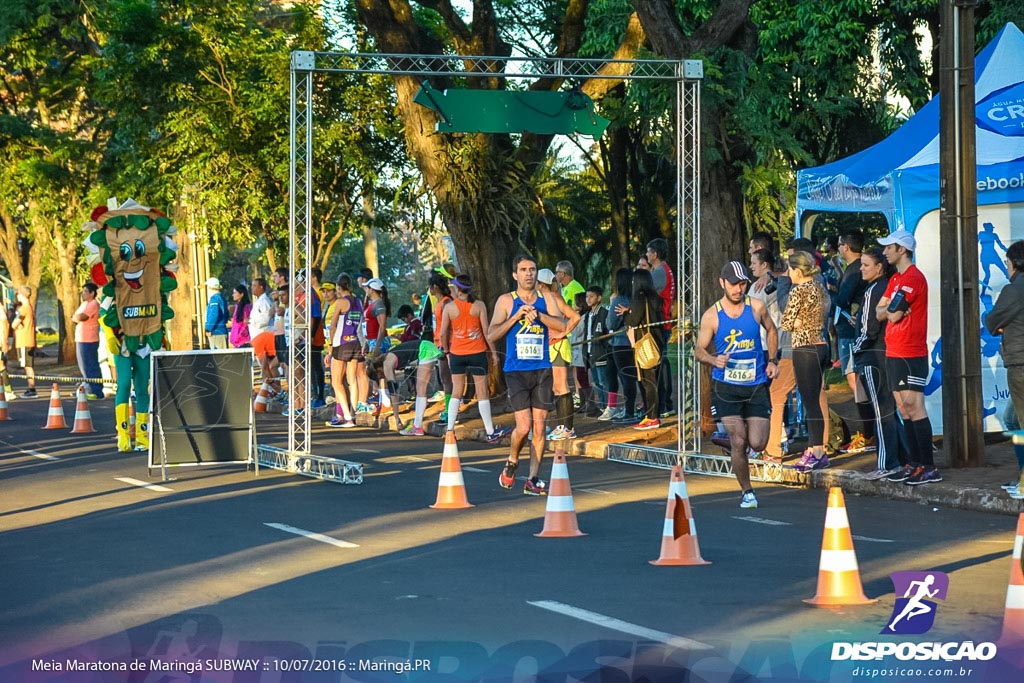
M 975 58 L 978 204 L 1024 202 L 1024 34 L 1002 28 Z M 939 98 L 892 135 L 797 173 L 797 224 L 817 211 L 879 212 L 913 230 L 939 206 Z

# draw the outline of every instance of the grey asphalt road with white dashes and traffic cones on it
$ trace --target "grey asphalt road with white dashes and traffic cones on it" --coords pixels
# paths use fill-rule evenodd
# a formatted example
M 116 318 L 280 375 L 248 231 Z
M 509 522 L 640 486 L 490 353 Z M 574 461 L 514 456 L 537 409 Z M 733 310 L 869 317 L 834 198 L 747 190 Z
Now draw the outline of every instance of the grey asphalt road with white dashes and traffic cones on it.
M 374 657 L 430 661 L 413 680 L 521 679 L 554 663 L 555 679 L 574 680 L 650 657 L 702 680 L 851 680 L 851 663 L 827 661 L 831 643 L 880 640 L 889 574 L 901 570 L 949 575 L 928 640 L 994 641 L 1001 629 L 1015 530 L 1005 516 L 850 497 L 864 592 L 879 601 L 818 609 L 802 600 L 815 593 L 824 492 L 761 485 L 761 507 L 740 510 L 734 480 L 691 476 L 712 564 L 651 566 L 664 470 L 570 458 L 588 536 L 539 539 L 546 500 L 499 487 L 505 447 L 460 443 L 475 507 L 432 510 L 435 438 L 316 428 L 314 453 L 365 463 L 361 485 L 241 465 L 177 468 L 164 482 L 144 456 L 116 452 L 109 400 L 92 407 L 101 433 L 85 435 L 40 429 L 45 399 L 11 408 L 18 420 L 0 423 L 0 681 L 395 680 L 353 671 Z M 261 439 L 283 428 L 278 416 L 259 422 Z M 31 671 L 32 658 L 154 657 L 261 664 L 239 674 L 208 663 L 191 678 Z M 280 671 L 274 657 L 347 671 Z M 673 671 L 666 680 L 681 680 Z

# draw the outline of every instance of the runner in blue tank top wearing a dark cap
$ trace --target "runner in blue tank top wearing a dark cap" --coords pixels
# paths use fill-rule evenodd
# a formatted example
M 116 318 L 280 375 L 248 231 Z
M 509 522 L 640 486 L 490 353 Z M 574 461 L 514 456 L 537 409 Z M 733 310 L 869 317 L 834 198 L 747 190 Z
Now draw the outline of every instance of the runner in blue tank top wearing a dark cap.
M 746 447 L 760 453 L 768 443 L 768 380 L 777 371 L 778 335 L 765 305 L 746 296 L 751 279 L 742 263 L 726 264 L 718 282 L 724 295 L 700 317 L 694 356 L 712 367 L 712 415 L 729 434 L 732 471 L 743 492 L 739 507 L 756 508 Z M 768 340 L 767 361 L 761 328 Z M 708 351 L 712 343 L 715 353 Z

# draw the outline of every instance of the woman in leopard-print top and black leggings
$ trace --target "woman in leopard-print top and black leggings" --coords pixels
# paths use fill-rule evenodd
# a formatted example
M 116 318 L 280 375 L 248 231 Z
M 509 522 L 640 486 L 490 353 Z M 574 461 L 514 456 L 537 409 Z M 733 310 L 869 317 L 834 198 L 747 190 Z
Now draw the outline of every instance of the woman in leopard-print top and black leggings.
M 825 418 L 818 397 L 821 382 L 829 361 L 828 346 L 822 334 L 828 314 L 828 294 L 815 282 L 820 272 L 814 257 L 807 252 L 794 252 L 790 257 L 790 279 L 793 289 L 782 312 L 780 327 L 793 333 L 793 371 L 797 390 L 807 416 L 808 447 L 797 462 L 800 472 L 828 466 L 825 455 Z

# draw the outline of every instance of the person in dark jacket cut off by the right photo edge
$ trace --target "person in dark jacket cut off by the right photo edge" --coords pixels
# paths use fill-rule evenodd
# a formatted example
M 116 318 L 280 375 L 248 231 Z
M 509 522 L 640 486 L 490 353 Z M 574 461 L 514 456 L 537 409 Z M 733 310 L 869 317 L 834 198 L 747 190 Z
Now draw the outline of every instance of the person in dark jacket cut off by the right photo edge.
M 985 316 L 985 328 L 993 336 L 1002 336 L 1002 366 L 1007 369 L 1010 400 L 1017 420 L 1024 424 L 1024 242 L 1015 242 L 1007 249 L 1007 265 L 1010 284 L 1002 288 Z M 1017 438 L 1014 441 L 1021 477 L 1002 487 L 1011 498 L 1024 499 L 1024 445 L 1016 443 Z

